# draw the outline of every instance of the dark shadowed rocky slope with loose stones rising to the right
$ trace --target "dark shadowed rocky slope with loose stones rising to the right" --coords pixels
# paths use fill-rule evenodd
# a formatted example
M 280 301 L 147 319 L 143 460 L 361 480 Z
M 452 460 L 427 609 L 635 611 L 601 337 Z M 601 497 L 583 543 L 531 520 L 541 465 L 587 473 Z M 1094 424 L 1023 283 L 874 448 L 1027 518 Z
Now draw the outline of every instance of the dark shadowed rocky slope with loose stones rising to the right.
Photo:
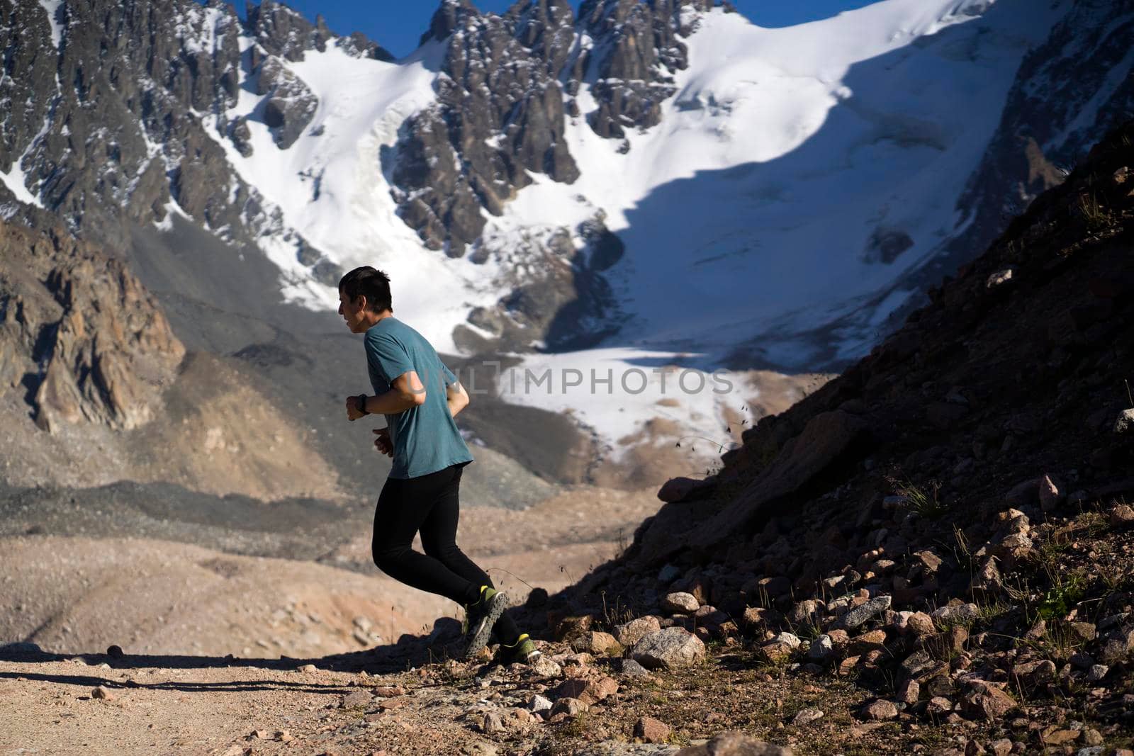
M 522 621 L 648 668 L 705 644 L 771 679 L 853 681 L 879 750 L 1129 753 L 1132 145 L 1134 122 Z

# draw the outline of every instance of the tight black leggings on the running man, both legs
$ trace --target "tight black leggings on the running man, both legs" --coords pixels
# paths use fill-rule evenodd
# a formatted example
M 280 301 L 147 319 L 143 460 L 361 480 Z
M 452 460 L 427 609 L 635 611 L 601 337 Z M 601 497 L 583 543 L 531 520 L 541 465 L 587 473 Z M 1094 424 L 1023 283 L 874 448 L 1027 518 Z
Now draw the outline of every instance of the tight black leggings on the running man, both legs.
M 379 569 L 399 583 L 471 604 L 492 579 L 457 547 L 460 474 L 467 462 L 415 478 L 387 478 L 374 510 L 371 551 Z M 422 534 L 425 553 L 411 546 Z M 519 632 L 507 615 L 497 636 L 511 643 Z

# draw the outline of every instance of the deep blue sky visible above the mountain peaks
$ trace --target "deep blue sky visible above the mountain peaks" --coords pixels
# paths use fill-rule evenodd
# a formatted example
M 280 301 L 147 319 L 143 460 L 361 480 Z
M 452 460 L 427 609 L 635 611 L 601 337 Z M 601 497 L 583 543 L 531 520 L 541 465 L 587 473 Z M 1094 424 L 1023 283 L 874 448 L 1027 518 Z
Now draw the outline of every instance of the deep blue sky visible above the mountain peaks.
M 734 0 L 737 9 L 761 26 L 792 26 L 804 22 L 833 16 L 840 10 L 869 6 L 875 0 Z M 440 6 L 440 0 L 284 0 L 304 16 L 314 19 L 315 14 L 327 18 L 327 25 L 336 34 L 362 32 L 395 56 L 408 54 L 417 46 L 417 41 L 429 27 L 429 19 Z M 473 0 L 481 10 L 501 12 L 515 0 Z M 235 3 L 243 14 L 244 3 Z M 577 8 L 578 0 L 573 0 Z

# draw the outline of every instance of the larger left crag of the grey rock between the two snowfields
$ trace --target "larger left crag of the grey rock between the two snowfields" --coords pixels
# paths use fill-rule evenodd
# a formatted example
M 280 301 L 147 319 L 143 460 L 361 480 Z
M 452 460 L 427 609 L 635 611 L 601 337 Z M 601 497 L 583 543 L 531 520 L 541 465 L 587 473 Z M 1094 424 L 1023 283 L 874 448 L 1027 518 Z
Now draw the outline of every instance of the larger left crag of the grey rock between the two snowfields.
M 401 216 L 431 248 L 463 255 L 484 228 L 481 207 L 501 214 L 531 182 L 528 170 L 568 184 L 578 178 L 562 141 L 558 70 L 539 57 L 565 57 L 572 18 L 565 0 L 506 17 L 446 0 L 434 14 L 430 36 L 448 40 L 438 102 L 407 121 L 393 167 Z

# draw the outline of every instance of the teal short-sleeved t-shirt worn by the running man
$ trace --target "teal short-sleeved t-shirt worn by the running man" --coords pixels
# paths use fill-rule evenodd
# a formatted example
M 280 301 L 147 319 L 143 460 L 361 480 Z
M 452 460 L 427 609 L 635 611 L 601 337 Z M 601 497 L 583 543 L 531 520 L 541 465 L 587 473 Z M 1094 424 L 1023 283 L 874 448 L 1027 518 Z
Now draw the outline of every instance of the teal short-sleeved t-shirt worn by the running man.
M 473 461 L 446 396 L 446 388 L 456 383 L 457 376 L 441 363 L 425 337 L 391 315 L 372 325 L 364 341 L 375 394 L 389 391 L 390 384 L 409 371 L 416 371 L 425 387 L 425 404 L 386 416 L 393 444 L 390 477 L 421 477 Z

